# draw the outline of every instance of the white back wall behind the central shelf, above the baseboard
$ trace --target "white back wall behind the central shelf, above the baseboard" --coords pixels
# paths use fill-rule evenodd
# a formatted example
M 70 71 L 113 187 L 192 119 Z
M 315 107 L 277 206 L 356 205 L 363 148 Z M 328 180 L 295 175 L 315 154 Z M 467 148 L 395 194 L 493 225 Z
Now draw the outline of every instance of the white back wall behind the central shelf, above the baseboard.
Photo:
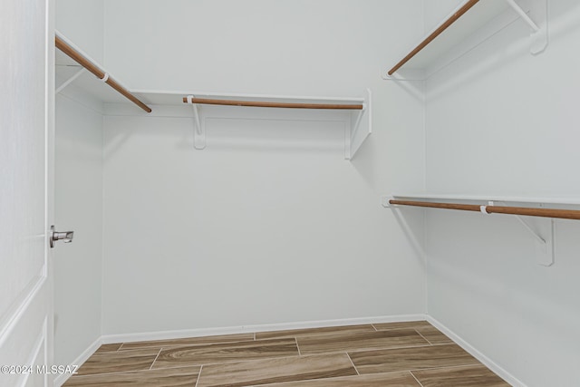
M 131 0 L 105 10 L 107 63 L 135 88 L 370 87 L 374 116 L 352 162 L 342 129 L 273 121 L 276 112 L 209 122 L 201 151 L 190 108 L 172 113 L 187 118 L 159 107 L 106 117 L 104 334 L 425 311 L 422 259 L 380 206 L 394 187 L 423 188 L 423 101 L 379 76 L 391 50 L 422 34 L 420 1 Z

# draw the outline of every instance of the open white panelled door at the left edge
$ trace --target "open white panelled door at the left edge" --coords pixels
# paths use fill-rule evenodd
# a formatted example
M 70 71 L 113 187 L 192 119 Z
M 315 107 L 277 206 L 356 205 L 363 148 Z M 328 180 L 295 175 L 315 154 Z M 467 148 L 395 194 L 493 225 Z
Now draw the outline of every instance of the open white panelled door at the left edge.
M 52 9 L 0 0 L 1 386 L 53 385 Z

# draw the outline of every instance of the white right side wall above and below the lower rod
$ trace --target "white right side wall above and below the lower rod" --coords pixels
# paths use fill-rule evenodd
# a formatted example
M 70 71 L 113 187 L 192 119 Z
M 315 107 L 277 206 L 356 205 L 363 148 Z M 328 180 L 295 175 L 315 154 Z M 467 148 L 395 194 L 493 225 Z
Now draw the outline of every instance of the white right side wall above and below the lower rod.
M 432 2 L 431 2 L 432 3 Z M 427 190 L 578 197 L 580 5 L 549 2 L 550 44 L 512 24 L 427 82 Z M 578 385 L 578 224 L 537 266 L 515 218 L 429 211 L 429 314 L 529 386 Z

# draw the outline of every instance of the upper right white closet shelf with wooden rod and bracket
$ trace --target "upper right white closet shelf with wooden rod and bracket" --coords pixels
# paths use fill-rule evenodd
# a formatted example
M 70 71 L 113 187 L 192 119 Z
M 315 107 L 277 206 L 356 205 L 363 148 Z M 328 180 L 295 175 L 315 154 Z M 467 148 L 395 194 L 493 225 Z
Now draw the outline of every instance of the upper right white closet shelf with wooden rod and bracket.
M 528 15 L 532 8 L 536 20 Z M 391 77 L 403 68 L 420 70 L 424 78 L 430 67 L 444 67 L 517 19 L 523 20 L 531 28 L 530 52 L 542 52 L 547 45 L 546 0 L 534 0 L 533 3 L 531 0 L 464 0 L 429 34 L 421 38 L 419 44 L 413 45 L 384 79 L 401 79 Z M 417 76 L 417 73 L 414 74 Z

